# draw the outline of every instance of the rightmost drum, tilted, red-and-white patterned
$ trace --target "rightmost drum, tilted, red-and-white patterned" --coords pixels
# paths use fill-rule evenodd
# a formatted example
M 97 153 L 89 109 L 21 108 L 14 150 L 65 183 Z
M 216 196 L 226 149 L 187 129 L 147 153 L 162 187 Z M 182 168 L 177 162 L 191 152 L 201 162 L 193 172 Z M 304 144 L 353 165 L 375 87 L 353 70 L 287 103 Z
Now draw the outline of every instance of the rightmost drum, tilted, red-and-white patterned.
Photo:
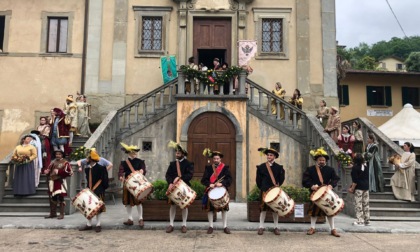
M 344 200 L 328 186 L 321 186 L 312 193 L 311 201 L 314 202 L 327 216 L 335 216 L 344 208 Z

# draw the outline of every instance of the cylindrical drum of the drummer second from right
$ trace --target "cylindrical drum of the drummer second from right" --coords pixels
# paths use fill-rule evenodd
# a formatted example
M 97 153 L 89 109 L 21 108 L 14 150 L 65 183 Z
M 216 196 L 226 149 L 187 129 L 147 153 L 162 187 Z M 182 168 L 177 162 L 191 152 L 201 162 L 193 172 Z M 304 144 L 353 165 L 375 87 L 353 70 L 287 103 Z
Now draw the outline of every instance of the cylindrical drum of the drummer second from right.
M 263 200 L 280 217 L 287 217 L 295 211 L 295 201 L 280 187 L 270 188 Z

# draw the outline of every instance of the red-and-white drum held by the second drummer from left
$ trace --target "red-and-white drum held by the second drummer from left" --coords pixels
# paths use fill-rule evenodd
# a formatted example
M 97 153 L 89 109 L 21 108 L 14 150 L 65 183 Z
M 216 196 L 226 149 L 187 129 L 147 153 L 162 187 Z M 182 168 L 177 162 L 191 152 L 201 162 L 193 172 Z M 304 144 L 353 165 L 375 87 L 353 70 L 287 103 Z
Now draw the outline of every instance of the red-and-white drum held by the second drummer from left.
M 125 179 L 127 190 L 138 200 L 145 199 L 152 191 L 153 185 L 139 171 L 132 172 Z

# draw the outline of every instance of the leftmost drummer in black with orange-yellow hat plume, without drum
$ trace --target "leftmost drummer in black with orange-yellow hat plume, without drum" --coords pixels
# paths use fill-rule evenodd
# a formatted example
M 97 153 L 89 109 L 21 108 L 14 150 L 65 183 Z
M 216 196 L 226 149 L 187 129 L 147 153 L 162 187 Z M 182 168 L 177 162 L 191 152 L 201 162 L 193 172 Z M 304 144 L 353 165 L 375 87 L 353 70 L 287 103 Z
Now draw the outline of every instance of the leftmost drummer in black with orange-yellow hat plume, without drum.
M 108 171 L 105 166 L 100 165 L 98 162 L 100 161 L 100 157 L 96 150 L 91 150 L 89 156 L 86 158 L 88 165 L 85 169 L 86 173 L 86 181 L 88 181 L 87 185 L 90 190 L 99 199 L 104 201 L 105 198 L 105 190 L 108 188 Z M 96 227 L 95 231 L 97 233 L 101 232 L 101 213 L 105 212 L 106 208 L 105 205 L 102 209 L 98 211 L 96 215 Z M 92 219 L 87 220 L 86 226 L 79 228 L 79 231 L 86 231 L 92 230 Z

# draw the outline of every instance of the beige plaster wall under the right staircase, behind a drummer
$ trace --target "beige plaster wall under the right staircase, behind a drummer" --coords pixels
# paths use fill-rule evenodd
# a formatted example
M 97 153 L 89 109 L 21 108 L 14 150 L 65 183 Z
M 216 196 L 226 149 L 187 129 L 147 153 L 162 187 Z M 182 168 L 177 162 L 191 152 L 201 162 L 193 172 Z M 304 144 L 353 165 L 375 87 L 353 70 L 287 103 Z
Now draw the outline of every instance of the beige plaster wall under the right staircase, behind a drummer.
M 286 172 L 285 185 L 302 185 L 302 174 L 306 168 L 302 164 L 303 146 L 297 143 L 293 138 L 279 132 L 270 125 L 264 123 L 257 117 L 249 114 L 249 151 L 247 159 L 249 162 L 249 189 L 255 185 L 257 174 L 257 165 L 267 161 L 265 156 L 258 152 L 259 147 L 269 147 L 271 142 L 280 142 L 280 156 L 276 159 L 278 164 L 283 165 Z

